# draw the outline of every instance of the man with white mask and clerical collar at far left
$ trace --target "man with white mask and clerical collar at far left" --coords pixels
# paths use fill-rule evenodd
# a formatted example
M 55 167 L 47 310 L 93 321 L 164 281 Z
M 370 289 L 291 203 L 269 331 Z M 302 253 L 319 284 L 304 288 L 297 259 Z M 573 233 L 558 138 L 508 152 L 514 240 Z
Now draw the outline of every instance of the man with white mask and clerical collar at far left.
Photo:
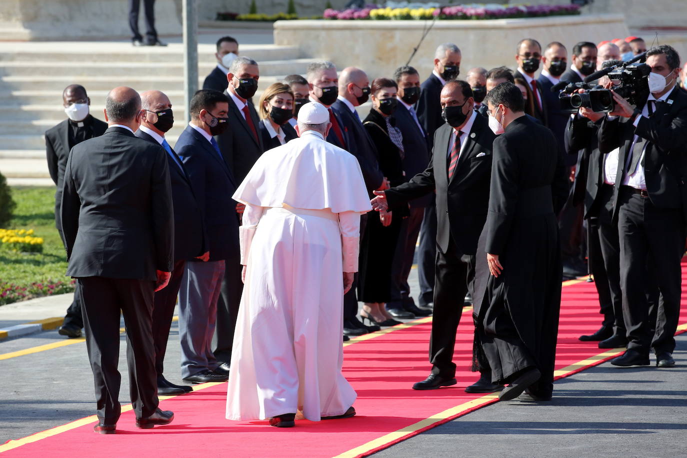
M 91 116 L 89 113 L 91 99 L 89 99 L 86 89 L 80 84 L 67 86 L 62 93 L 62 102 L 68 119 L 45 132 L 45 153 L 50 178 L 57 186 L 55 191 L 55 225 L 60 237 L 64 240 L 62 225 L 60 224 L 60 203 L 62 202 L 62 183 L 65 178 L 65 165 L 67 165 L 69 151 L 82 141 L 104 134 L 107 130 L 107 123 Z M 77 283 L 76 288 L 78 287 Z M 74 300 L 67 308 L 65 321 L 63 321 L 58 332 L 60 335 L 72 339 L 81 336 L 81 328 L 83 327 L 79 294 L 78 290 L 75 290 Z

